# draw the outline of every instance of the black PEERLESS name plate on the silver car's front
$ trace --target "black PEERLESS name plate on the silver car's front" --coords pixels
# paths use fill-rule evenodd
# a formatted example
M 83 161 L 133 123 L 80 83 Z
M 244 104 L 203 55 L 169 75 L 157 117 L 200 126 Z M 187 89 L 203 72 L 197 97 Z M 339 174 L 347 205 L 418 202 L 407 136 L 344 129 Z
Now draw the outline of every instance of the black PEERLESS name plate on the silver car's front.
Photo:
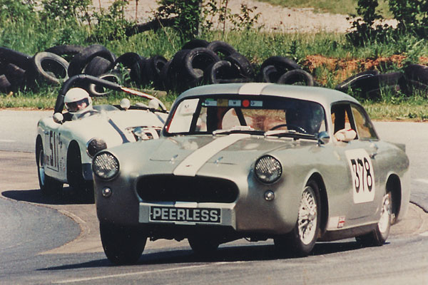
M 221 221 L 220 209 L 150 207 L 151 222 L 215 223 Z

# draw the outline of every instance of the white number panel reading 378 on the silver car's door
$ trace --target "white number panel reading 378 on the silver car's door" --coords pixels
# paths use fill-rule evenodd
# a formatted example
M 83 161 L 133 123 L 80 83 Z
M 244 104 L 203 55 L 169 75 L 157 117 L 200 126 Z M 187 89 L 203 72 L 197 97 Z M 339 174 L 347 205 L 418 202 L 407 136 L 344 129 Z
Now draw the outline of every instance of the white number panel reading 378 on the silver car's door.
M 374 200 L 374 171 L 372 160 L 364 149 L 348 150 L 347 161 L 352 174 L 354 202 L 364 203 Z

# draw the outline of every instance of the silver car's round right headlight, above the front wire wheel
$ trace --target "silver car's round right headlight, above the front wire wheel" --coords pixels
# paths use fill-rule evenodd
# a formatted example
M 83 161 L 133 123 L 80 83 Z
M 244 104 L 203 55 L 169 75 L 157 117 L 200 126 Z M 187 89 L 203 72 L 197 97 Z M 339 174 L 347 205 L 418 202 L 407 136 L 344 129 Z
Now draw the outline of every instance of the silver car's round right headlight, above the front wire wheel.
M 260 157 L 255 162 L 255 176 L 263 183 L 273 183 L 280 179 L 282 174 L 281 163 L 270 155 Z

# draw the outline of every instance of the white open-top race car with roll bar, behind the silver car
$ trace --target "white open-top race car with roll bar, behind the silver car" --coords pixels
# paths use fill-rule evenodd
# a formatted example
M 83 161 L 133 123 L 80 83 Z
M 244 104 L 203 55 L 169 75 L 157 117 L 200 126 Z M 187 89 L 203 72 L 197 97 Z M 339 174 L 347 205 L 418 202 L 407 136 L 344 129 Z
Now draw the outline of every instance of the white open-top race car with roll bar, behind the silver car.
M 74 88 L 76 84 L 96 84 L 98 88 L 120 90 L 151 102 L 131 105 L 124 99 L 121 105 L 92 106 L 86 90 Z M 77 108 L 80 103 L 85 105 L 82 110 Z M 65 113 L 64 104 L 68 104 Z M 159 105 L 163 110 L 158 110 Z M 37 124 L 36 163 L 41 192 L 45 195 L 58 192 L 67 183 L 78 192 L 91 194 L 93 155 L 106 147 L 158 138 L 167 116 L 163 103 L 151 95 L 93 76 L 70 78 L 58 95 L 54 115 L 42 118 Z

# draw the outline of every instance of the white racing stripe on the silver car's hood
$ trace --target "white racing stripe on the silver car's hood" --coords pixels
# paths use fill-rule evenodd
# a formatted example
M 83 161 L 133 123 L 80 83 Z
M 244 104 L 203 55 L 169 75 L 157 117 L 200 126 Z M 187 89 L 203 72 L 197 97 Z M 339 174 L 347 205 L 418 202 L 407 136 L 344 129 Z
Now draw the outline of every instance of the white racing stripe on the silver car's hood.
M 250 138 L 248 134 L 230 134 L 225 137 L 219 137 L 212 142 L 198 148 L 177 166 L 174 170 L 174 175 L 195 176 L 196 172 L 205 165 L 213 155 L 224 150 L 229 145 L 233 145 L 238 140 Z

